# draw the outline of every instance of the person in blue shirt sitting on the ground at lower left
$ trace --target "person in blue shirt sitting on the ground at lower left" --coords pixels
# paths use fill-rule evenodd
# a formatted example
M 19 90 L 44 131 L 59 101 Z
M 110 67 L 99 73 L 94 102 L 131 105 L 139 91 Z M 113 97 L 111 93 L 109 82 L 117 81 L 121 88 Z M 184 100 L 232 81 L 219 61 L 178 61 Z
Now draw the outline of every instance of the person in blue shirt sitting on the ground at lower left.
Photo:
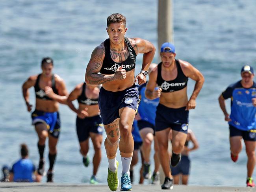
M 28 159 L 28 146 L 20 145 L 21 159 L 15 162 L 11 168 L 9 181 L 14 182 L 40 182 L 41 175 L 35 174 L 35 165 Z M 35 175 L 35 178 L 33 178 Z

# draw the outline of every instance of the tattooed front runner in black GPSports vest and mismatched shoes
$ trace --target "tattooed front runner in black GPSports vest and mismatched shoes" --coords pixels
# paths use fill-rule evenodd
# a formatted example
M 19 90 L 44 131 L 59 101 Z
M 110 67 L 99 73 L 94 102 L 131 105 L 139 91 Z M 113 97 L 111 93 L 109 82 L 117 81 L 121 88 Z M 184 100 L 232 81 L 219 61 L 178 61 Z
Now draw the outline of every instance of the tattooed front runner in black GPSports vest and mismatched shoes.
M 124 37 L 127 31 L 126 18 L 119 13 L 107 18 L 107 26 L 109 39 L 93 50 L 85 82 L 87 85 L 102 84 L 99 107 L 107 133 L 105 148 L 109 163 L 108 186 L 112 191 L 119 186 L 116 161 L 119 147 L 122 159 L 121 190 L 126 191 L 132 190 L 129 177 L 134 150 L 132 123 L 139 102 L 139 91 L 135 83 L 141 85 L 146 82 L 155 47 L 144 39 Z M 139 53 L 143 53 L 142 67 L 134 78 L 135 58 Z

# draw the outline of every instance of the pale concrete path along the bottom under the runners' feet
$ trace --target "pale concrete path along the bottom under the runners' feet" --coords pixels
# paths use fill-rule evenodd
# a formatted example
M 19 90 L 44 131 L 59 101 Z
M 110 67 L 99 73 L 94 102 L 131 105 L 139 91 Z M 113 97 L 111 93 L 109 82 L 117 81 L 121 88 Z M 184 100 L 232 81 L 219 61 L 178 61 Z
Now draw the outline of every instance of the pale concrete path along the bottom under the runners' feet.
M 117 192 L 120 191 L 120 186 Z M 132 191 L 164 192 L 160 185 L 133 185 Z M 174 185 L 171 192 L 250 192 L 256 188 L 229 186 L 181 186 Z M 111 192 L 107 185 L 76 183 L 0 183 L 0 192 Z

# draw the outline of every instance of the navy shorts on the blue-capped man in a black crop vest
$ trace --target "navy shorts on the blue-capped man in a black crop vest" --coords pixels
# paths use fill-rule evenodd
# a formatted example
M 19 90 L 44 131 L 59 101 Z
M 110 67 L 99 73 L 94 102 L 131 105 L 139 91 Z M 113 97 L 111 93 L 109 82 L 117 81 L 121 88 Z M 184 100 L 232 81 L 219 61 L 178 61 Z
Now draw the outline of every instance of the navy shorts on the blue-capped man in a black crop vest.
M 156 107 L 156 131 L 171 127 L 174 131 L 187 133 L 189 111 L 185 109 L 186 107 L 173 109 L 159 103 Z

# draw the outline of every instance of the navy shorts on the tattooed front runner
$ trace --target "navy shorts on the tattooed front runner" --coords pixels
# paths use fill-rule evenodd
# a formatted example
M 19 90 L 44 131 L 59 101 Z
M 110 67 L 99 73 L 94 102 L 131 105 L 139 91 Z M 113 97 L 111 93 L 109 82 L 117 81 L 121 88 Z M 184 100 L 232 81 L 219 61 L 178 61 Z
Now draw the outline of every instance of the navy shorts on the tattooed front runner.
M 132 87 L 117 92 L 108 91 L 101 87 L 98 103 L 102 123 L 108 125 L 119 118 L 119 109 L 122 107 L 130 107 L 137 114 L 139 101 L 139 90 L 135 84 Z

